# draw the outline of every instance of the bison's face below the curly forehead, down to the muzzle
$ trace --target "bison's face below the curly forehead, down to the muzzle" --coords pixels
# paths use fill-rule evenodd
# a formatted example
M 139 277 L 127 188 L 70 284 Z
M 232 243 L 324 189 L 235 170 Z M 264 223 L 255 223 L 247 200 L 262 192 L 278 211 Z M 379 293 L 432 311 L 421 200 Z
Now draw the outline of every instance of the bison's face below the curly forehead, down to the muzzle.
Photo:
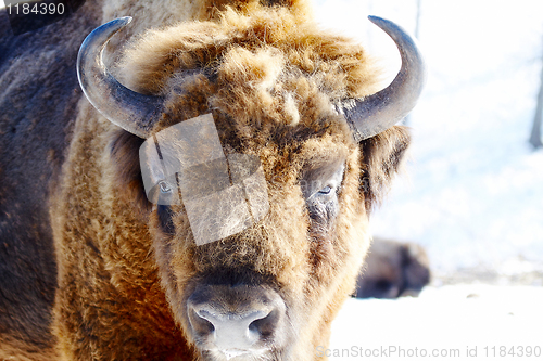
M 226 238 L 198 246 L 184 205 L 154 206 L 161 279 L 177 322 L 204 357 L 303 360 L 326 343 L 331 305 L 352 287 L 367 247 L 353 241 L 366 219 L 357 146 L 339 140 L 307 136 L 273 157 L 272 138 L 253 140 L 269 210 Z

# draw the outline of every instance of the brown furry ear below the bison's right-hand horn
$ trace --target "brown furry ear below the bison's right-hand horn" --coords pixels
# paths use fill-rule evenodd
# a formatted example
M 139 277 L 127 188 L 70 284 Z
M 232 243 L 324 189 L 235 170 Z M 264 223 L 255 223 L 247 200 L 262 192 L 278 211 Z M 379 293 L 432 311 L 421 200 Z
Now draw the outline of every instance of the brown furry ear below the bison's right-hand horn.
M 359 143 L 359 185 L 368 214 L 388 192 L 409 143 L 409 130 L 403 126 L 394 126 Z

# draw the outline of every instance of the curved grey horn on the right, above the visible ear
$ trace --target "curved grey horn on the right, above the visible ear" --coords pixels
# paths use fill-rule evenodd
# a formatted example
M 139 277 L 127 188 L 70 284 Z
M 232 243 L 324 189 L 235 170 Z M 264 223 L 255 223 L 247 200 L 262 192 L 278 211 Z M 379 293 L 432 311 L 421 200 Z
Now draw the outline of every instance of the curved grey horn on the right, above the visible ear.
M 394 40 L 402 56 L 402 68 L 390 86 L 343 109 L 357 142 L 402 120 L 417 103 L 426 78 L 425 62 L 415 41 L 390 21 L 377 16 L 369 20 Z

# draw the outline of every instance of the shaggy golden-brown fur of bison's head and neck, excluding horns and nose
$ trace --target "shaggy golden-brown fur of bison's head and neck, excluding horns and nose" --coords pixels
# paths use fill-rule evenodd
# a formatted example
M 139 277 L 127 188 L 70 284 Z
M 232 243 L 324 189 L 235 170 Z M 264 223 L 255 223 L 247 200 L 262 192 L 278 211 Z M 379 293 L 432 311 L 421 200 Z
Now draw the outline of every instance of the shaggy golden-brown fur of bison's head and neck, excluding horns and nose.
M 142 140 L 80 101 L 62 178 L 48 197 L 59 274 L 56 351 L 64 360 L 198 360 L 187 298 L 203 279 L 231 274 L 231 283 L 267 280 L 293 325 L 285 357 L 313 360 L 354 288 L 369 210 L 408 134 L 393 127 L 353 142 L 332 104 L 375 92 L 377 72 L 359 46 L 319 30 L 306 1 L 171 2 L 147 20 L 144 10 L 157 2 L 103 7 L 102 21 L 136 13 L 135 28 L 115 36 L 110 49 L 144 27 L 209 20 L 142 35 L 124 53 L 119 79 L 166 98 L 156 131 L 213 113 L 225 153 L 260 157 L 270 209 L 244 232 L 197 247 L 182 206 L 164 216 L 147 202 Z M 323 229 L 308 217 L 300 180 L 307 168 L 338 159 L 345 164 L 340 210 Z M 0 354 L 10 356 L 5 350 Z

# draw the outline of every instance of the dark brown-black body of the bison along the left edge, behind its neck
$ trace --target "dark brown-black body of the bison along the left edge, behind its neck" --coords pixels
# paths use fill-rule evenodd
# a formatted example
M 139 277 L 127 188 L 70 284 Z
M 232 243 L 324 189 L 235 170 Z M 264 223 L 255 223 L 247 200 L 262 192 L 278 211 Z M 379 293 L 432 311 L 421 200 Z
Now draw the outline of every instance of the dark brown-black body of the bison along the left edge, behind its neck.
M 54 358 L 50 186 L 83 96 L 74 64 L 100 25 L 96 5 L 18 36 L 0 10 L 0 360 Z

